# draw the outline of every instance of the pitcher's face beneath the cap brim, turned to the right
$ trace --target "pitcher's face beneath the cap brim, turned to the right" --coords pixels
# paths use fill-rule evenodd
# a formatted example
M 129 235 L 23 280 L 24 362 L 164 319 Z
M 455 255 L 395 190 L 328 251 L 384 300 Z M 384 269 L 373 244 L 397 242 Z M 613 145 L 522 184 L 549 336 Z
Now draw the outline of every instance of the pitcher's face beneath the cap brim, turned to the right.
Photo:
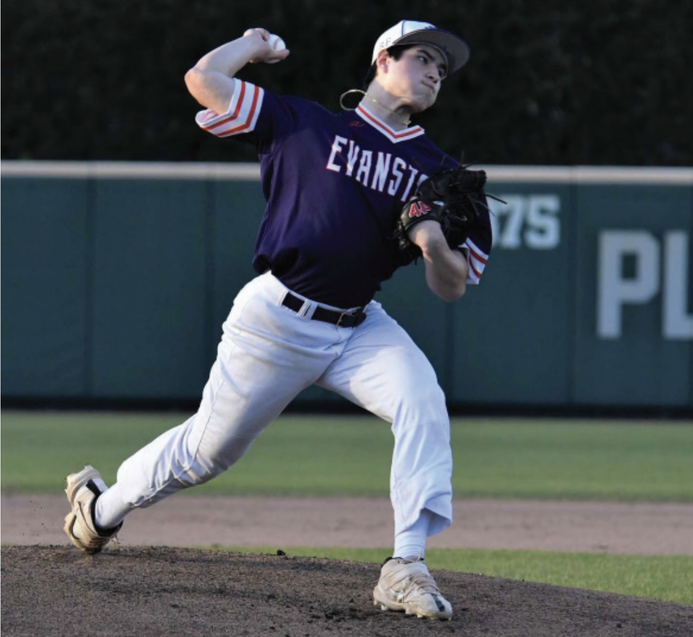
M 393 61 L 387 88 L 407 100 L 413 112 L 425 111 L 438 97 L 447 66 L 444 55 L 437 48 L 417 44 Z

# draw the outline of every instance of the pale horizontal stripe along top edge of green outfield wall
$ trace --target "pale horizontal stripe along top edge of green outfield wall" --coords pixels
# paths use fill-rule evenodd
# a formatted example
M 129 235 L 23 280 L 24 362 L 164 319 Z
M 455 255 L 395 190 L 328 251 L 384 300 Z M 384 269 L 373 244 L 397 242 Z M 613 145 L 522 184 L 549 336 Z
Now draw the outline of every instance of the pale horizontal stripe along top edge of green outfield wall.
M 618 166 L 475 165 L 489 181 L 511 183 L 624 183 L 693 186 L 693 168 L 624 168 Z M 99 177 L 101 179 L 222 179 L 260 178 L 258 163 L 157 163 L 137 161 L 0 161 L 7 177 Z

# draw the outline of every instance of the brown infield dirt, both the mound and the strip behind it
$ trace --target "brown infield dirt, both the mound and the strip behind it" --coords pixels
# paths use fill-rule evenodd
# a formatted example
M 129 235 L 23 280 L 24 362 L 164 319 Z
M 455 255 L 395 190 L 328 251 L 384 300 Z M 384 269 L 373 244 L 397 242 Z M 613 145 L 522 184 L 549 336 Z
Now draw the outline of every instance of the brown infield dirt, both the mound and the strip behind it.
M 455 511 L 435 544 L 692 552 L 691 505 L 456 501 Z M 387 546 L 388 501 L 171 498 L 132 514 L 121 542 L 91 557 L 67 544 L 66 512 L 64 496 L 3 496 L 2 540 L 21 545 L 1 551 L 3 636 L 693 634 L 692 606 L 448 571 L 433 574 L 453 620 L 417 620 L 372 605 L 377 564 L 291 555 L 291 546 Z M 199 544 L 288 555 L 184 548 Z

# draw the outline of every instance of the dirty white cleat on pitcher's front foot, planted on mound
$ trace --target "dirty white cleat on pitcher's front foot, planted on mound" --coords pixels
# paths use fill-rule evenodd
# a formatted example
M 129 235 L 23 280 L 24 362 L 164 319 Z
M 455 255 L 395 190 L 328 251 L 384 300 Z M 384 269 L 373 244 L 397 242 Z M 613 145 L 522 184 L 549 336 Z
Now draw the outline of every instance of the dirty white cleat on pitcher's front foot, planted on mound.
M 373 591 L 373 604 L 419 618 L 453 618 L 452 605 L 441 595 L 423 559 L 388 559 Z

